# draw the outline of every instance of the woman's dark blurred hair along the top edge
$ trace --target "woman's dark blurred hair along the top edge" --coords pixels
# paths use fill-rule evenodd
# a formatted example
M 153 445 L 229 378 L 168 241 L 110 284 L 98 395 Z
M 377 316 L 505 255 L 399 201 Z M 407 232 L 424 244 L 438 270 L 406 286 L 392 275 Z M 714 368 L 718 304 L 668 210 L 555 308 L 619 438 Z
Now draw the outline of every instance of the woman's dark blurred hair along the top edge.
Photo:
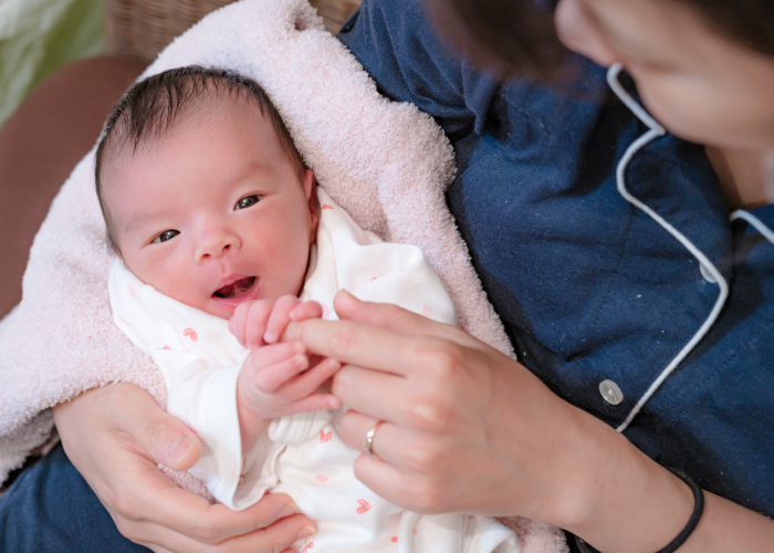
M 671 1 L 695 10 L 728 39 L 774 58 L 774 0 Z M 425 2 L 447 34 L 496 72 L 551 77 L 566 53 L 553 21 L 556 0 Z

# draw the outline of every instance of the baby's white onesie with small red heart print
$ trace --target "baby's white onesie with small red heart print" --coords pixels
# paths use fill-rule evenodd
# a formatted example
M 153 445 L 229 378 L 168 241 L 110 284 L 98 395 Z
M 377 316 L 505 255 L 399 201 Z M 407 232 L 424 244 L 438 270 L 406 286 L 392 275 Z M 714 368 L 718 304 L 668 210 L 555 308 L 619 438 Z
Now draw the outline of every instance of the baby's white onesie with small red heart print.
M 363 231 L 322 189 L 316 248 L 301 300 L 323 305 L 346 289 L 360 300 L 388 302 L 454 324 L 454 306 L 421 250 L 386 243 Z M 237 376 L 249 354 L 228 321 L 157 292 L 116 260 L 108 291 L 116 324 L 161 371 L 167 410 L 194 428 L 203 453 L 190 472 L 234 510 L 266 491 L 287 493 L 317 522 L 294 544 L 304 553 L 515 553 L 515 534 L 493 519 L 461 513 L 422 515 L 385 501 L 354 476 L 359 451 L 338 436 L 343 409 L 272 420 L 244 456 L 237 415 Z

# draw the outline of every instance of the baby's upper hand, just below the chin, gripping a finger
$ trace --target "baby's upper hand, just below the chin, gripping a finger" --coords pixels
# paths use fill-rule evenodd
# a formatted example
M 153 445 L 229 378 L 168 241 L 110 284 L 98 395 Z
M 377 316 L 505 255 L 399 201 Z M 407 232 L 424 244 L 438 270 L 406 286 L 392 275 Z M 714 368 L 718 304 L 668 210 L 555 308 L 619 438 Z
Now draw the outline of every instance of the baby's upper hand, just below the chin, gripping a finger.
M 323 307 L 317 302 L 301 302 L 294 295 L 279 300 L 244 302 L 229 321 L 229 331 L 248 349 L 276 343 L 291 321 L 320 317 Z

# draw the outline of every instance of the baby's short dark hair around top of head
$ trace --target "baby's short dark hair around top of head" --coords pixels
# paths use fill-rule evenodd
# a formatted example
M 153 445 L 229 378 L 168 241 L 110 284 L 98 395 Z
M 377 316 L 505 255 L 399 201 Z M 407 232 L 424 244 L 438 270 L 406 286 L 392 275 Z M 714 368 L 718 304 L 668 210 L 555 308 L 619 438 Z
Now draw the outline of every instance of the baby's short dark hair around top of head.
M 119 251 L 118 242 L 102 196 L 101 173 L 105 158 L 122 146 L 130 145 L 135 152 L 140 144 L 160 140 L 175 128 L 176 122 L 192 113 L 190 109 L 196 106 L 192 101 L 205 94 L 216 98 L 236 96 L 254 101 L 261 115 L 271 121 L 280 146 L 303 179 L 306 167 L 301 154 L 282 117 L 257 82 L 233 71 L 199 65 L 177 67 L 149 76 L 134 84 L 118 101 L 105 122 L 97 145 L 94 180 L 100 208 L 105 218 L 107 243 L 114 251 Z

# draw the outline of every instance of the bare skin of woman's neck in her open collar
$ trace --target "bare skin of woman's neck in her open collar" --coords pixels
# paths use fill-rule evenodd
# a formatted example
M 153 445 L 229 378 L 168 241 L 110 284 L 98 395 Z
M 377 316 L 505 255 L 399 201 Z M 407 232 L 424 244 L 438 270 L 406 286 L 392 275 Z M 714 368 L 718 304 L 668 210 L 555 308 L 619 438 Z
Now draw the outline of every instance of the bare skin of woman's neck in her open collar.
M 729 209 L 747 209 L 774 202 L 772 154 L 707 146 L 707 157 L 720 178 Z

